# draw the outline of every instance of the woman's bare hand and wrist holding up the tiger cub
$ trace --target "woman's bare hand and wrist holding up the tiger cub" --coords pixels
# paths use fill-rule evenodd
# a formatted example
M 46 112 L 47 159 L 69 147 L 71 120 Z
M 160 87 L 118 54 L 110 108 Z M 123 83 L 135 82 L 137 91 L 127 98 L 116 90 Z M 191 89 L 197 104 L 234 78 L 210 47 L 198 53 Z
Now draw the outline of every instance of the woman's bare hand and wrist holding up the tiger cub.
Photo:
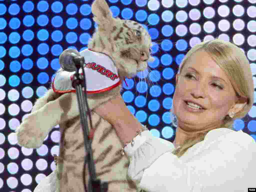
M 121 95 L 93 110 L 111 123 L 123 144 L 131 141 L 142 125 L 126 107 Z

